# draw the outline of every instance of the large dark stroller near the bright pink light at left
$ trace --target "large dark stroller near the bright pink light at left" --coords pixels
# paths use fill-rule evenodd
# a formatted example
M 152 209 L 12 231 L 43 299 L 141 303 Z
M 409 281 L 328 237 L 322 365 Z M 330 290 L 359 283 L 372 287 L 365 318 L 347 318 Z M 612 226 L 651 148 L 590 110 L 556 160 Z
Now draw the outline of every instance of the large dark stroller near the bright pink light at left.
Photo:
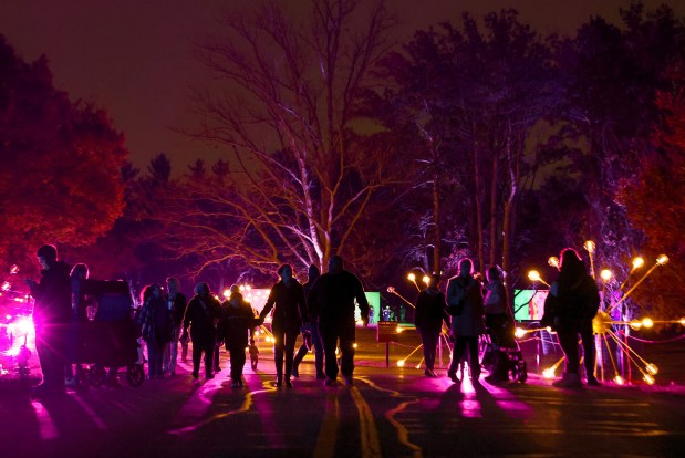
M 131 316 L 131 293 L 124 281 L 81 280 L 81 293 L 97 298 L 93 321 L 79 321 L 75 325 L 73 361 L 77 388 L 101 386 L 110 368 L 116 376 L 126 367 L 126 379 L 138 387 L 145 379 L 143 364 L 138 363 L 139 329 Z M 90 367 L 85 367 L 90 365 Z

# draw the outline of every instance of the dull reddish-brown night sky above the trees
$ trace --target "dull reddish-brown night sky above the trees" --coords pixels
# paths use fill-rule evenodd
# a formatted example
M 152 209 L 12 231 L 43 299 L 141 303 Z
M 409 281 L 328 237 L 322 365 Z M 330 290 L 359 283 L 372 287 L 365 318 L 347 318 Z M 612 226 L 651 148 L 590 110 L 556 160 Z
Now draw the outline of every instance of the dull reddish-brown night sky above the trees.
M 204 69 L 195 61 L 193 39 L 216 30 L 222 9 L 239 10 L 256 0 L 2 0 L 0 34 L 33 61 L 45 54 L 54 85 L 104 107 L 123 132 L 137 167 L 166 153 L 177 171 L 197 157 L 209 163 L 219 152 L 172 131 L 187 125 L 188 87 Z M 304 8 L 305 0 L 284 1 Z M 666 3 L 685 17 L 685 1 L 644 1 L 648 9 Z M 541 33 L 573 34 L 593 15 L 617 21 L 616 0 L 391 0 L 399 19 L 399 40 L 416 29 L 443 21 L 458 23 L 463 11 L 481 17 L 515 8 Z M 416 6 L 421 6 L 417 8 Z

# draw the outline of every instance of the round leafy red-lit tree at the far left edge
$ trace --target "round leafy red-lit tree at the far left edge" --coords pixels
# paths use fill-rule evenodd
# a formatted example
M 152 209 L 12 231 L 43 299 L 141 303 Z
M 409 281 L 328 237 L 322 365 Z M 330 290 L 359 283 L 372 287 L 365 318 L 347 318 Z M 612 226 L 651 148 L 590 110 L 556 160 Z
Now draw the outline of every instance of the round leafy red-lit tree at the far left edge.
M 25 63 L 0 37 L 2 263 L 28 270 L 42 243 L 83 246 L 110 230 L 124 207 L 126 155 L 103 111 L 71 102 L 45 58 Z

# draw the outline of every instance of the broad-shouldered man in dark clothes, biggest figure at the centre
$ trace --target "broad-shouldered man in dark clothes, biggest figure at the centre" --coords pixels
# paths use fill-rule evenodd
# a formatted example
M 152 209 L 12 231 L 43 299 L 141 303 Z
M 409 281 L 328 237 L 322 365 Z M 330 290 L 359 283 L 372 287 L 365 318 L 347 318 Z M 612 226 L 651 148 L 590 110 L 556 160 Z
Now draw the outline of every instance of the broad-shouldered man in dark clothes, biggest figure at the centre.
M 329 271 L 314 282 L 309 294 L 312 316 L 318 316 L 319 332 L 323 341 L 325 384 L 335 386 L 338 358 L 335 348 L 340 341 L 341 367 L 345 384 L 353 384 L 354 372 L 354 301 L 356 300 L 364 326 L 369 324 L 369 301 L 360 279 L 344 269 L 343 259 L 332 256 Z

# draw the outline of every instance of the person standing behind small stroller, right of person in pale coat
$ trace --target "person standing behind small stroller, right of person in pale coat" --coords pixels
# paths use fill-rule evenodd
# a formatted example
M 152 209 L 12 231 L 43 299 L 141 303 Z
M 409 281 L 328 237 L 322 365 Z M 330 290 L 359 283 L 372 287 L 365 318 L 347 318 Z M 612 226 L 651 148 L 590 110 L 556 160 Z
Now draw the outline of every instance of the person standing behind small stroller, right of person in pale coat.
M 501 348 L 516 347 L 513 340 L 513 318 L 507 305 L 507 291 L 497 266 L 487 271 L 488 284 L 485 296 L 485 324 L 488 329 L 494 351 L 492 373 L 486 377 L 488 383 L 509 379 L 509 356 Z

